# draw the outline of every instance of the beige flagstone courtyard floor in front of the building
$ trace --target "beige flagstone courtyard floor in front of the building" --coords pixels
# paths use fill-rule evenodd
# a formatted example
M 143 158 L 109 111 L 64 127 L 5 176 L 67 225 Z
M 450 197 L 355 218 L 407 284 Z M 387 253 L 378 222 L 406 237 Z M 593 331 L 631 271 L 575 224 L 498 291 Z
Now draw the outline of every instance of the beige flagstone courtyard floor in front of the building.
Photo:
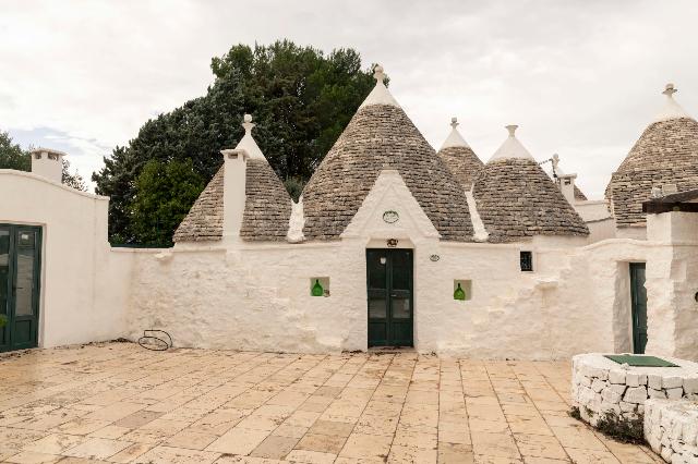
M 0 355 L 12 463 L 652 463 L 568 417 L 569 364 L 399 354 Z

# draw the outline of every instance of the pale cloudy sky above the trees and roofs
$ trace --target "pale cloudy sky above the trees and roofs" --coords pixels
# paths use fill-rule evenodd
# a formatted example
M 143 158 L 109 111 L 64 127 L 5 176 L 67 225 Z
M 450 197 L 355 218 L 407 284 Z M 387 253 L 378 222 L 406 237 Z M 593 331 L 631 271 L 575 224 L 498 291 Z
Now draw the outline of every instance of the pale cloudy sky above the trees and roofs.
M 0 130 L 86 179 L 152 117 L 204 95 L 210 58 L 289 38 L 380 62 L 436 148 L 452 115 L 488 160 L 518 136 L 601 197 L 676 84 L 698 114 L 698 2 L 0 0 Z

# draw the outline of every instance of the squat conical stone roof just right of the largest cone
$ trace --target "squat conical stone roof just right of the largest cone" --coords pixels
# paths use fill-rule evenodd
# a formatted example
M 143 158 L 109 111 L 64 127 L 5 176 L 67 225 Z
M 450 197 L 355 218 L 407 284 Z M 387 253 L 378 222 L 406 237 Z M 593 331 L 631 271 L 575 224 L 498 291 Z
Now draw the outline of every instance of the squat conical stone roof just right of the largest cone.
M 473 184 L 478 212 L 489 241 L 516 242 L 533 235 L 589 234 L 555 183 L 507 126 L 509 137 Z

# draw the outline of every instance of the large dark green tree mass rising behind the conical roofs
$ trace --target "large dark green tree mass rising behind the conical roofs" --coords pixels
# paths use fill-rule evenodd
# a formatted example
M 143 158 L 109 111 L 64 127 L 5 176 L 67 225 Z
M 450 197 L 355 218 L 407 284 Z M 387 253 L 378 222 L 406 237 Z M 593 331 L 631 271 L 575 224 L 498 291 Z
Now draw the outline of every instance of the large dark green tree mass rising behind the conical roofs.
M 111 197 L 112 242 L 142 243 L 148 240 L 143 231 L 154 228 L 154 217 L 132 215 L 136 180 L 148 161 L 191 159 L 193 173 L 207 182 L 222 162 L 220 149 L 242 137 L 244 113 L 254 117 L 254 136 L 269 163 L 298 195 L 374 85 L 354 50 L 326 56 L 288 40 L 237 45 L 210 68 L 215 80 L 205 96 L 147 121 L 93 174 L 97 193 Z M 170 236 L 176 227 L 169 225 Z

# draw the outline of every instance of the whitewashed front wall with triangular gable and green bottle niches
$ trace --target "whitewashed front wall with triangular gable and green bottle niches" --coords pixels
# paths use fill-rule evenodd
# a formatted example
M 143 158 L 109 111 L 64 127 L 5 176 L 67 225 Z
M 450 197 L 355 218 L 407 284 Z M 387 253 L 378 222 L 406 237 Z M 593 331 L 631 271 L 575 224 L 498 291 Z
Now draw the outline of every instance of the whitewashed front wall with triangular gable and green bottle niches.
M 385 210 L 398 211 L 400 220 L 387 224 Z M 549 359 L 615 347 L 614 309 L 629 304 L 629 286 L 618 303 L 627 266 L 617 265 L 613 246 L 587 249 L 585 240 L 566 237 L 440 242 L 395 171 L 376 181 L 340 242 L 178 245 L 136 255 L 130 337 L 153 327 L 186 346 L 365 350 L 365 248 L 385 247 L 386 239 L 414 248 L 414 343 L 421 352 Z M 522 249 L 534 253 L 534 272 L 520 271 Z M 329 277 L 329 297 L 310 296 L 315 277 Z M 472 281 L 472 300 L 453 300 L 454 279 Z

